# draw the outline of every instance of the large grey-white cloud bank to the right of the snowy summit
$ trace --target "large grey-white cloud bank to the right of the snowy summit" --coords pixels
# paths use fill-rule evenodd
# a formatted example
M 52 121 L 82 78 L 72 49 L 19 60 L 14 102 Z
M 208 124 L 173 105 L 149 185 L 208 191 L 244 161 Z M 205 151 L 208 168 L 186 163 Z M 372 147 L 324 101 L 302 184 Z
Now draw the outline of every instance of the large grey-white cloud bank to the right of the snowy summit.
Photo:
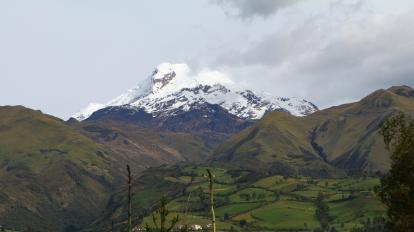
M 242 83 L 325 107 L 357 100 L 377 88 L 414 86 L 414 14 L 377 14 L 361 1 L 318 14 L 281 12 L 274 30 L 212 63 Z

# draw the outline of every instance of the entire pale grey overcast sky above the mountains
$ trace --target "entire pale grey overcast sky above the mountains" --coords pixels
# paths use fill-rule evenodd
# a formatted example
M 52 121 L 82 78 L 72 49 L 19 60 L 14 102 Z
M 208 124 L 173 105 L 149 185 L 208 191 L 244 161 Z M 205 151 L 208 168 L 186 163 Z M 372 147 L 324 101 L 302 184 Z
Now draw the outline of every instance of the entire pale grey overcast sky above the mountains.
M 0 0 L 0 105 L 67 119 L 161 62 L 321 108 L 414 86 L 412 0 Z

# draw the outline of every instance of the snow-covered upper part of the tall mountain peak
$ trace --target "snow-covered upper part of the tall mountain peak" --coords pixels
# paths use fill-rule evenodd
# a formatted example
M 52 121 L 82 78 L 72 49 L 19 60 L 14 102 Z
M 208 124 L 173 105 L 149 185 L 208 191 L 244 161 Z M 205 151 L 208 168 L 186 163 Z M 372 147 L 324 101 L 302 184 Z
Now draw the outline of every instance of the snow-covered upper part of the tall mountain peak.
M 304 116 L 317 110 L 315 105 L 303 99 L 237 90 L 220 72 L 202 71 L 193 75 L 186 64 L 162 63 L 135 88 L 107 104 L 89 104 L 73 117 L 85 120 L 100 109 L 114 106 L 144 110 L 153 117 L 166 117 L 205 103 L 219 105 L 241 119 L 260 119 L 268 111 Z

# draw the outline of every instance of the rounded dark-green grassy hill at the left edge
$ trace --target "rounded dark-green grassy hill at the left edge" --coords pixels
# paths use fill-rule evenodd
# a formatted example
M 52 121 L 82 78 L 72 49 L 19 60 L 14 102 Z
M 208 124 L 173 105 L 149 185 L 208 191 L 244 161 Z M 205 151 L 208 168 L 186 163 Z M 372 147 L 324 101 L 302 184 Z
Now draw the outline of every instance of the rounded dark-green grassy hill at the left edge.
M 0 107 L 0 218 L 12 228 L 63 231 L 88 224 L 114 181 L 109 157 L 61 120 Z

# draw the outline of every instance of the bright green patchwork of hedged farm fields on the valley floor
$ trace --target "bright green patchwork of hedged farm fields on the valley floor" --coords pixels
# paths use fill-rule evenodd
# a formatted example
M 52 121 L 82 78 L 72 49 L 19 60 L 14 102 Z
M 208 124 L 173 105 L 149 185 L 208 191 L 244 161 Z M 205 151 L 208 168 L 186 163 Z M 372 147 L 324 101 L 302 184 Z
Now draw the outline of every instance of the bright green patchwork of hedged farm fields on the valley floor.
M 317 199 L 328 207 L 330 228 L 351 231 L 375 217 L 385 207 L 375 196 L 378 178 L 314 179 L 273 175 L 249 179 L 248 173 L 211 169 L 215 175 L 214 197 L 219 231 L 313 231 L 320 227 Z M 182 194 L 169 198 L 170 218 L 181 225 L 210 224 L 206 167 L 186 167 L 182 176 L 165 178 L 185 184 Z M 247 180 L 246 180 L 247 179 Z M 152 225 L 152 216 L 144 217 Z

